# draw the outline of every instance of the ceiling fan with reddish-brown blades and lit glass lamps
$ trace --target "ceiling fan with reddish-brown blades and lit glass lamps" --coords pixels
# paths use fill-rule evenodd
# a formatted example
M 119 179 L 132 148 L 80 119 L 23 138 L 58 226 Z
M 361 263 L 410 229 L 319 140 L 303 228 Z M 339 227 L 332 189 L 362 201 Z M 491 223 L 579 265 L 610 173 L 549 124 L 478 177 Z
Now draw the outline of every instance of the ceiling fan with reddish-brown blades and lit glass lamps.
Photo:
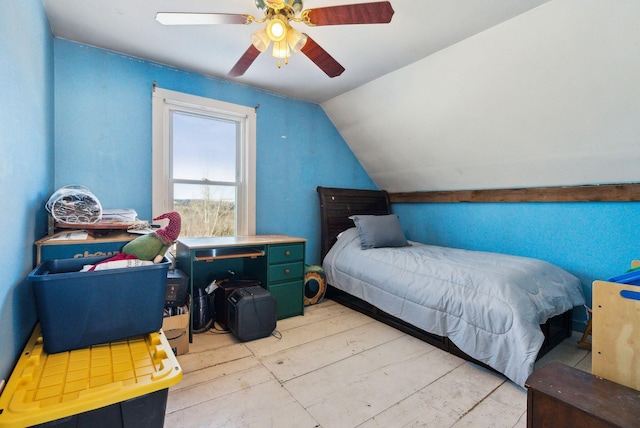
M 229 13 L 158 12 L 156 20 L 164 25 L 211 25 L 264 23 L 266 27 L 251 35 L 251 45 L 233 66 L 229 75 L 242 76 L 262 52 L 273 42 L 272 54 L 288 63 L 291 52 L 302 52 L 329 77 L 342 74 L 344 67 L 307 34 L 291 26 L 302 22 L 308 26 L 387 24 L 394 10 L 388 1 L 328 6 L 304 9 L 302 0 L 255 0 L 264 13 L 257 19 L 252 15 Z

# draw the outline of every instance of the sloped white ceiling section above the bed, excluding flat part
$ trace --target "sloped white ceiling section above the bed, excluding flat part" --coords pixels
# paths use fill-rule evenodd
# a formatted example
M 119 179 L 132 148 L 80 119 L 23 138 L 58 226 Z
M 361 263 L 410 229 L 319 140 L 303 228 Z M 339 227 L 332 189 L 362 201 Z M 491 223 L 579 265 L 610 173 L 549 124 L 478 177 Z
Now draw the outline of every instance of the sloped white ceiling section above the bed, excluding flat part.
M 639 23 L 553 0 L 322 106 L 393 192 L 640 182 Z

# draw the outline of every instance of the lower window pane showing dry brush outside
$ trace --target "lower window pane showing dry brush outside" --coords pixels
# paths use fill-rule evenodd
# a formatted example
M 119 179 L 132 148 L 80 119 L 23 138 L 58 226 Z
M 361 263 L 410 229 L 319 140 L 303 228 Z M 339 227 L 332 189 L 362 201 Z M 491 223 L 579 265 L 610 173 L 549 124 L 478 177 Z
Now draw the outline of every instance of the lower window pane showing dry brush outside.
M 235 235 L 234 186 L 175 184 L 173 208 L 182 217 L 183 238 Z

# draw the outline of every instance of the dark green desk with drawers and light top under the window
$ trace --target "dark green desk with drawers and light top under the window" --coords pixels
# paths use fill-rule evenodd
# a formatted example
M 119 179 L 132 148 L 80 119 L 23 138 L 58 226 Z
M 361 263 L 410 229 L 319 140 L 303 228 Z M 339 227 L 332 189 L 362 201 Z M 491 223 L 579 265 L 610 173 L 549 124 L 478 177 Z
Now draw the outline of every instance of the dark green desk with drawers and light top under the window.
M 205 288 L 229 272 L 260 281 L 278 302 L 278 319 L 304 313 L 303 238 L 285 235 L 181 238 L 176 243 L 178 268 L 189 276 L 189 291 Z M 193 341 L 193 317 L 189 341 Z

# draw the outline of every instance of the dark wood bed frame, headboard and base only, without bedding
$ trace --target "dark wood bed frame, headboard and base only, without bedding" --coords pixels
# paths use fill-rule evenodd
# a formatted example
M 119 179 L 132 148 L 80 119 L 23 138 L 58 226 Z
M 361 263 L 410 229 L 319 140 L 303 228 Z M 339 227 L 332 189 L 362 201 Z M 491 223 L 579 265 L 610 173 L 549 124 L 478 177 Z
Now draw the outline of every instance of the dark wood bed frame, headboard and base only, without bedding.
M 391 212 L 389 194 L 383 190 L 318 187 L 317 192 L 320 197 L 322 260 L 324 260 L 329 249 L 333 244 L 335 244 L 338 234 L 354 226 L 353 220 L 349 219 L 349 216 L 356 214 L 384 215 Z M 367 314 L 372 318 L 395 327 L 407 334 L 411 334 L 412 336 L 424 340 L 425 342 L 437 346 L 451 354 L 493 370 L 486 364 L 462 352 L 451 340 L 449 340 L 449 338 L 438 336 L 417 328 L 381 311 L 370 303 L 338 290 L 330 284 L 327 284 L 326 295 L 338 303 Z M 553 349 L 554 346 L 571 336 L 571 313 L 572 311 L 569 310 L 564 314 L 549 319 L 545 324 L 540 326 L 545 339 L 537 358 L 542 357 Z

